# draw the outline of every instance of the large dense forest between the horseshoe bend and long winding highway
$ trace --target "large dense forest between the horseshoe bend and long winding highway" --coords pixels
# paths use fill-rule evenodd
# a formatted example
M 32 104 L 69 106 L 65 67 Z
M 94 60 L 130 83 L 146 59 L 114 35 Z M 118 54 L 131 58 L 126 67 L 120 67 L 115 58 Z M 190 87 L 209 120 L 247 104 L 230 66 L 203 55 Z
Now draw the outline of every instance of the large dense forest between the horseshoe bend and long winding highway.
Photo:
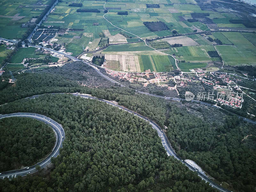
M 167 156 L 152 126 L 106 103 L 71 95 L 44 95 L 0 110 L 42 113 L 62 124 L 66 132 L 50 175 L 39 172 L 24 179 L 1 180 L 3 192 L 19 188 L 49 192 L 216 191 Z

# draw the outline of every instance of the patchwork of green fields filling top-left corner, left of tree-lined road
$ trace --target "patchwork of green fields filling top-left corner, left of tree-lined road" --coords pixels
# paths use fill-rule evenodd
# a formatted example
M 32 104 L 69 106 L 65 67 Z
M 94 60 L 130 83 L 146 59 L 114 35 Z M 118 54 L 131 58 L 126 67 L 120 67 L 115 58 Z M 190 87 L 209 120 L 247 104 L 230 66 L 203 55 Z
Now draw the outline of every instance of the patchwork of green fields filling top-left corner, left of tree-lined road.
M 40 15 L 50 0 L 1 0 L 0 1 L 0 36 L 20 39 L 27 31 L 21 25 Z

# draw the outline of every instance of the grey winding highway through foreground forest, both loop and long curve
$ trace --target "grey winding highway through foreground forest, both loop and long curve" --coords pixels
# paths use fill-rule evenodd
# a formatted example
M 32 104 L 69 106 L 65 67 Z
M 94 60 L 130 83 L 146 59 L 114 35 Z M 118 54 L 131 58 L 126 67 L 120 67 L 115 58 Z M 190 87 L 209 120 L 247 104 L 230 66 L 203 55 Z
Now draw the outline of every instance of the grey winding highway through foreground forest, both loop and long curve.
M 51 93 L 51 94 L 64 94 L 64 93 Z M 191 171 L 193 172 L 197 172 L 198 176 L 205 181 L 205 183 L 209 183 L 209 185 L 213 188 L 216 188 L 222 192 L 231 192 L 223 187 L 221 187 L 220 185 L 216 184 L 215 182 L 213 182 L 212 180 L 208 179 L 207 177 L 205 177 L 203 174 L 201 174 L 200 172 L 198 172 L 194 167 L 192 167 L 191 165 L 189 165 L 188 163 L 186 163 L 185 161 L 183 161 L 179 156 L 177 156 L 177 154 L 175 153 L 175 151 L 172 149 L 171 147 L 171 144 L 169 143 L 169 141 L 167 140 L 167 137 L 165 135 L 165 133 L 161 130 L 161 128 L 153 121 L 149 120 L 147 117 L 145 116 L 141 116 L 140 114 L 136 113 L 136 112 L 133 112 L 132 110 L 130 109 L 127 109 L 127 108 L 124 108 L 123 106 L 120 106 L 118 104 L 115 104 L 115 103 L 112 103 L 108 100 L 103 100 L 103 99 L 99 99 L 99 98 L 96 98 L 96 97 L 92 97 L 92 96 L 89 96 L 89 95 L 82 95 L 82 94 L 78 94 L 78 93 L 73 93 L 74 96 L 77 96 L 77 97 L 83 97 L 83 98 L 87 98 L 87 99 L 94 99 L 94 100 L 99 100 L 99 101 L 102 101 L 102 102 L 105 102 L 105 103 L 108 103 L 112 106 L 115 106 L 115 107 L 118 107 L 120 109 L 123 109 L 135 116 L 138 116 L 142 119 L 144 119 L 145 121 L 147 121 L 149 124 L 152 125 L 153 129 L 155 129 L 162 141 L 162 144 L 167 152 L 167 155 L 168 156 L 173 156 L 175 159 L 177 159 L 178 161 L 180 161 L 182 164 L 185 164 L 188 169 L 190 169 Z M 151 95 L 151 94 L 149 94 Z M 31 97 L 27 97 L 26 99 L 33 99 L 33 98 L 36 98 L 36 97 L 39 97 L 40 95 L 34 95 L 34 96 L 31 96 Z M 158 96 L 158 97 L 162 97 L 162 96 Z M 164 97 L 165 99 L 171 99 L 169 97 Z M 179 99 L 179 98 L 177 98 Z M 179 99 L 180 100 L 180 99 Z M 65 138 L 65 133 L 62 129 L 62 126 L 60 124 L 58 124 L 57 122 L 53 121 L 52 119 L 46 117 L 46 116 L 43 116 L 43 115 L 39 115 L 39 114 L 34 114 L 34 113 L 13 113 L 13 114 L 7 114 L 7 115 L 1 115 L 0 116 L 0 119 L 1 118 L 5 118 L 5 117 L 12 117 L 12 116 L 21 116 L 21 117 L 31 117 L 31 118 L 35 118 L 37 120 L 40 120 L 44 123 L 47 123 L 49 125 L 52 126 L 55 134 L 56 134 L 56 144 L 55 144 L 55 147 L 53 148 L 52 150 L 52 153 L 47 157 L 45 158 L 42 162 L 36 164 L 36 165 L 40 165 L 41 168 L 45 167 L 47 164 L 50 163 L 50 160 L 51 160 L 51 157 L 54 156 L 56 157 L 58 154 L 59 154 L 59 148 L 62 147 L 62 141 L 64 140 Z M 255 122 L 254 122 L 255 123 Z M 62 138 L 63 136 L 63 138 Z M 29 169 L 20 169 L 20 170 L 12 170 L 12 171 L 8 171 L 8 172 L 2 172 L 2 174 L 0 175 L 0 179 L 4 179 L 4 178 L 8 178 L 8 179 L 12 179 L 12 178 L 15 178 L 17 176 L 25 176 L 27 174 L 31 174 L 31 173 L 34 173 L 36 172 L 36 165 L 33 165 L 32 167 L 29 167 Z

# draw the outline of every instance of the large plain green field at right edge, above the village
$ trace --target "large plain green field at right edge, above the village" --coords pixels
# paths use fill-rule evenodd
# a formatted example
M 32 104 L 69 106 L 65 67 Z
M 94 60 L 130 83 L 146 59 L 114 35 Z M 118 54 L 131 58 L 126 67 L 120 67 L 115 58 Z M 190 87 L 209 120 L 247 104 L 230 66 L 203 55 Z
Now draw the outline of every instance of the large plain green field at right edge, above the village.
M 239 32 L 222 32 L 222 34 L 234 44 L 216 45 L 225 65 L 256 65 L 255 45 Z

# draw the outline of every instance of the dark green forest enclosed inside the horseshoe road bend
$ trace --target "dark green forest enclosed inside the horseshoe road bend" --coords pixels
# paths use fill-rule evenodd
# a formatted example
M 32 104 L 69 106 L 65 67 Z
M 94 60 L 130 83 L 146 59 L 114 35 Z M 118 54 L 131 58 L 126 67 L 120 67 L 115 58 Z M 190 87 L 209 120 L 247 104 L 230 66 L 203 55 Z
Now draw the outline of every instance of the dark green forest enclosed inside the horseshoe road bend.
M 0 119 L 0 132 L 0 172 L 35 164 L 55 143 L 49 125 L 27 117 Z

